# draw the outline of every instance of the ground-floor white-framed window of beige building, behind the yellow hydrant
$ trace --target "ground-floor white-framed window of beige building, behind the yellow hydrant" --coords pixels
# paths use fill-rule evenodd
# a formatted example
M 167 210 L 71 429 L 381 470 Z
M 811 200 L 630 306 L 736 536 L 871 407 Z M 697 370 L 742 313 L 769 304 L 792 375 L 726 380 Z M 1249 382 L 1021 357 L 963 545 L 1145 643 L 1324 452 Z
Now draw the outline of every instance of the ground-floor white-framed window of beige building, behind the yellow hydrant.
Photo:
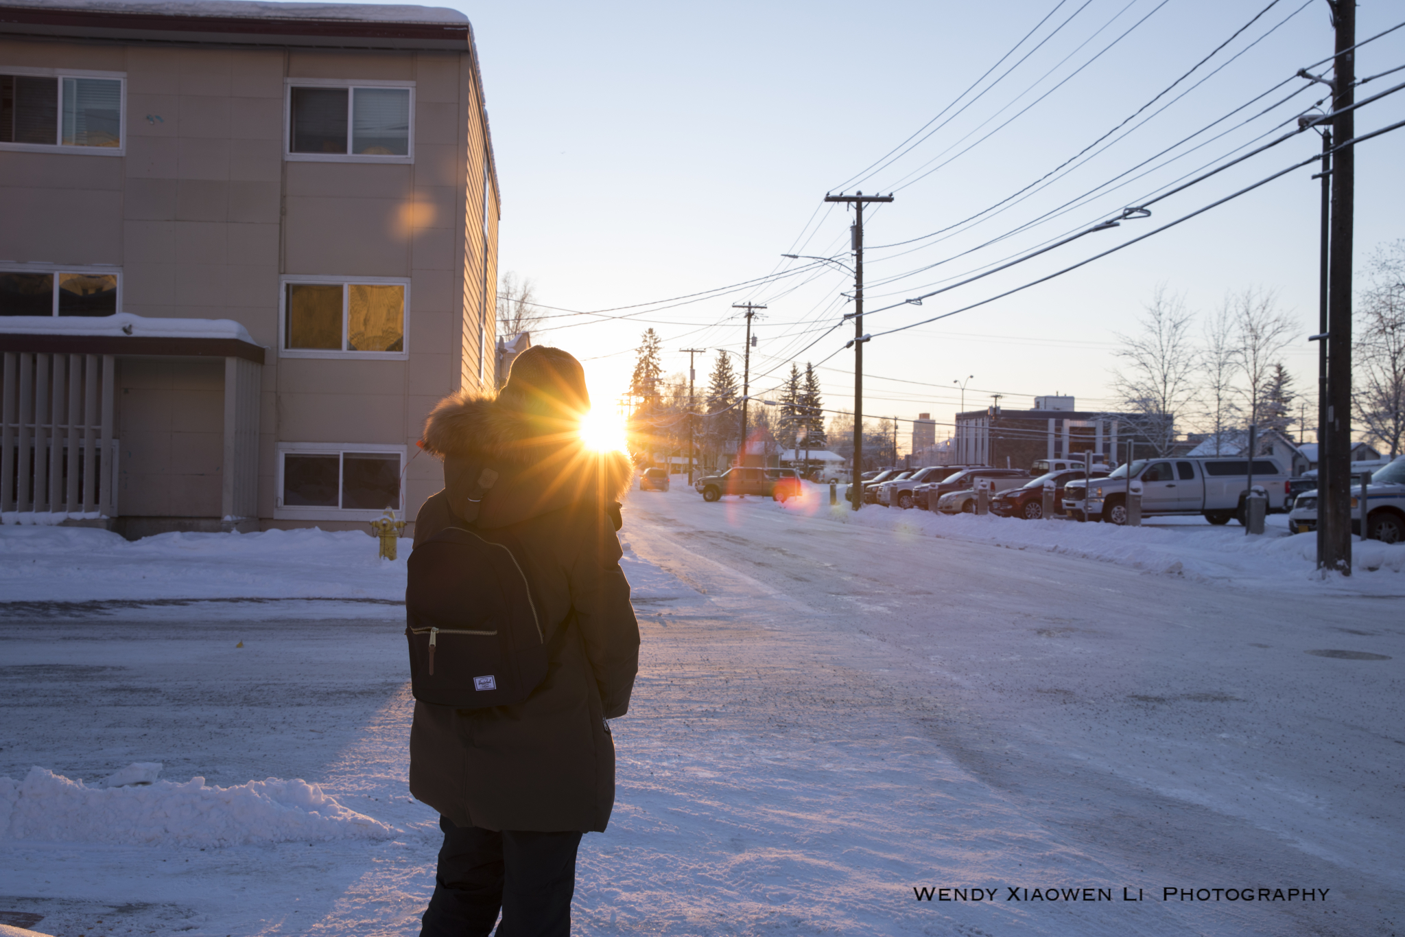
M 280 443 L 278 506 L 287 520 L 375 520 L 403 510 L 403 445 Z

